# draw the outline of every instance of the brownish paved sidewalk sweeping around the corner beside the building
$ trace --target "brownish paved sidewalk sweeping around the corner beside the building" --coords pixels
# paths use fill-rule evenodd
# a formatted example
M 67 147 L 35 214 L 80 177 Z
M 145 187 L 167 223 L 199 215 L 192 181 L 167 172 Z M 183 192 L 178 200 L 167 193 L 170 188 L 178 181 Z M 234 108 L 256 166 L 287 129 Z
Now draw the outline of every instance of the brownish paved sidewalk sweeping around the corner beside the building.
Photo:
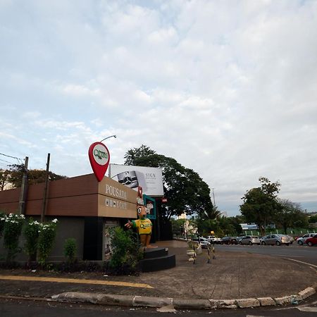
M 187 302 L 198 300 L 208 302 L 211 299 L 212 303 L 217 300 L 233 300 L 233 302 L 229 301 L 227 306 L 240 306 L 237 299 L 271 299 L 266 300 L 267 304 L 276 304 L 278 303 L 276 299 L 282 297 L 285 297 L 283 299 L 285 303 L 291 302 L 295 300 L 295 295 L 297 299 L 302 299 L 304 296 L 301 293 L 302 298 L 300 298 L 298 293 L 306 290 L 307 287 L 315 287 L 317 283 L 316 270 L 286 259 L 247 252 L 230 252 L 230 247 L 228 251 L 218 252 L 215 246 L 216 259 L 211 259 L 211 263 L 207 263 L 206 249 L 203 249 L 203 254 L 197 257 L 193 265 L 188 261 L 186 254 L 187 243 L 162 241 L 157 245 L 168 247 L 169 254 L 176 254 L 175 268 L 142 273 L 140 276 L 1 270 L 0 295 L 51 298 L 64 292 L 81 292 L 90 295 L 173 298 Z M 60 280 L 27 280 L 27 278 L 6 280 L 8 275 L 13 275 L 13 278 L 25 276 L 33 279 L 42 277 Z M 314 290 L 310 289 L 308 293 L 313 294 L 313 292 Z M 56 298 L 67 299 L 63 296 Z M 257 300 L 253 306 L 259 306 L 258 303 L 260 305 L 261 301 Z

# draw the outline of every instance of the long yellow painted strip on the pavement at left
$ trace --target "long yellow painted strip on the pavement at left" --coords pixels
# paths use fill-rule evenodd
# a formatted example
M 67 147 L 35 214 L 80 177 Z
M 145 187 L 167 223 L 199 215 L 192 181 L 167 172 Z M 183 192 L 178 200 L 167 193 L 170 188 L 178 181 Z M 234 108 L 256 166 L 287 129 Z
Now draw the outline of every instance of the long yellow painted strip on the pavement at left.
M 62 282 L 62 283 L 77 283 L 77 284 L 96 284 L 96 285 L 114 285 L 114 286 L 128 286 L 141 288 L 154 288 L 147 284 L 118 282 L 109 280 L 80 280 L 75 278 L 42 278 L 37 276 L 15 276 L 15 275 L 0 275 L 0 280 L 28 280 L 35 282 Z

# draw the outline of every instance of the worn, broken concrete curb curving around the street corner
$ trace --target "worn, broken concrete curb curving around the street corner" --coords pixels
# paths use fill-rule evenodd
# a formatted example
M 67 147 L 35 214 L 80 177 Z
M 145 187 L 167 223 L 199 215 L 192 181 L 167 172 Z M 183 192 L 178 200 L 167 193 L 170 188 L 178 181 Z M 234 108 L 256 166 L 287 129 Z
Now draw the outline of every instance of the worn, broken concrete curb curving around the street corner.
M 168 297 L 146 297 L 116 294 L 65 292 L 51 299 L 58 302 L 80 302 L 89 304 L 130 306 L 130 307 L 172 307 L 173 309 L 238 309 L 259 306 L 298 304 L 316 293 L 316 285 L 307 287 L 298 294 L 284 297 L 259 297 L 247 299 L 173 299 Z

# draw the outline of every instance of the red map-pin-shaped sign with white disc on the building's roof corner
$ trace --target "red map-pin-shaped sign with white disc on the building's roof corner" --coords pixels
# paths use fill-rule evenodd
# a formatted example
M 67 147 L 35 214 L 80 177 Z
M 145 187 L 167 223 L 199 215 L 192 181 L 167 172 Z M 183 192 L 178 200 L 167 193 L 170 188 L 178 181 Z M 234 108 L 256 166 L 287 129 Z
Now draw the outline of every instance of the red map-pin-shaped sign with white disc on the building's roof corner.
M 106 145 L 101 142 L 94 142 L 88 150 L 90 165 L 94 171 L 98 182 L 104 178 L 104 174 L 108 169 L 110 154 Z

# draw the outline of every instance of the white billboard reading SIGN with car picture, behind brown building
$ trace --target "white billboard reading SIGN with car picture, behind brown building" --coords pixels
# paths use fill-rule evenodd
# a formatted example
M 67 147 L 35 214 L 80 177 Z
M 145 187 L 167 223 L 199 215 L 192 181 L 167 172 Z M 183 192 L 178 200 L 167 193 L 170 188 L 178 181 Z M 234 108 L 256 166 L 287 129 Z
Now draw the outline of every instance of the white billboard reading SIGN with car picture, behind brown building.
M 163 196 L 161 168 L 110 164 L 109 177 L 135 190 L 141 186 L 143 194 L 148 196 Z

